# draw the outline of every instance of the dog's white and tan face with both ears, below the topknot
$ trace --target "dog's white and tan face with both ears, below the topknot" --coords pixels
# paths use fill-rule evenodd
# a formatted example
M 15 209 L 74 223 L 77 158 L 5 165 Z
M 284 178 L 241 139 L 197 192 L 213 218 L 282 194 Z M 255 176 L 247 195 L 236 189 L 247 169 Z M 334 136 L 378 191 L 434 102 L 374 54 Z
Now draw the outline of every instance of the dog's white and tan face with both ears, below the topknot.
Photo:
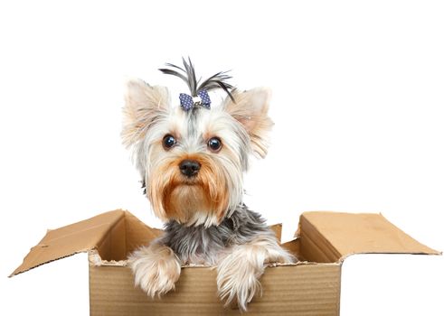
M 128 82 L 122 138 L 156 216 L 217 225 L 242 200 L 250 153 L 264 157 L 269 90 L 232 94 L 219 107 L 170 107 L 166 88 Z

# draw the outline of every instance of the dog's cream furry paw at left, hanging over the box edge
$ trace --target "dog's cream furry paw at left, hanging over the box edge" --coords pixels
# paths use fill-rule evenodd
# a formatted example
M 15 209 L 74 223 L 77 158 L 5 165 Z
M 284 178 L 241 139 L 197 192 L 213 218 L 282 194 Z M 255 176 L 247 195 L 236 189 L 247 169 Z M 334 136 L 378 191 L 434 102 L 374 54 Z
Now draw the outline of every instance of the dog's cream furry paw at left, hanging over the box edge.
M 175 289 L 180 276 L 180 261 L 168 246 L 141 247 L 128 258 L 135 284 L 152 298 Z

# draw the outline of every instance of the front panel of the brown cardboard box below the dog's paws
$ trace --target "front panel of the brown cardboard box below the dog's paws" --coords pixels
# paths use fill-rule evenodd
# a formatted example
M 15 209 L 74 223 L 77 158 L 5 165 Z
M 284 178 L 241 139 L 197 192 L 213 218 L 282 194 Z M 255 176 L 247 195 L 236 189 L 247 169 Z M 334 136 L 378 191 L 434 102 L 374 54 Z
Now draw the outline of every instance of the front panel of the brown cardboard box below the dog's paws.
M 340 265 L 269 267 L 260 279 L 262 296 L 248 305 L 251 315 L 338 315 Z M 90 266 L 90 314 L 239 315 L 217 297 L 216 271 L 184 267 L 175 292 L 152 300 L 134 287 L 128 267 Z

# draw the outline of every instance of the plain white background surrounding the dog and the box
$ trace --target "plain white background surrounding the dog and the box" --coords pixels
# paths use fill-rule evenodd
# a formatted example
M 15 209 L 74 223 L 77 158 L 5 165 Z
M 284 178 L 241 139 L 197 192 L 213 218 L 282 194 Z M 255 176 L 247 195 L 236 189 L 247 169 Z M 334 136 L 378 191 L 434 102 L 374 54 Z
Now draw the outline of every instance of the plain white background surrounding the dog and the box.
M 88 313 L 84 254 L 6 278 L 46 228 L 118 208 L 161 225 L 120 144 L 123 82 L 186 92 L 156 69 L 188 55 L 203 77 L 273 89 L 246 200 L 285 238 L 304 210 L 383 212 L 444 249 L 443 16 L 439 1 L 2 2 L 0 314 Z M 342 315 L 442 315 L 443 268 L 352 256 Z

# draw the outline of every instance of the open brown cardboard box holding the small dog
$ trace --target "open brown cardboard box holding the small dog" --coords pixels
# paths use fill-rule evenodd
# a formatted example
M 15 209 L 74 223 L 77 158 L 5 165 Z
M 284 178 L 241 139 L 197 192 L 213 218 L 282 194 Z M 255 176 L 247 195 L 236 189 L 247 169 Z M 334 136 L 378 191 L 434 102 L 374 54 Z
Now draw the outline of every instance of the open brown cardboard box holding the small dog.
M 273 229 L 280 237 L 280 226 Z M 175 292 L 152 300 L 135 288 L 126 258 L 162 234 L 126 210 L 113 210 L 50 230 L 33 246 L 13 274 L 88 252 L 91 315 L 234 315 L 216 294 L 213 267 L 183 267 Z M 302 261 L 272 265 L 261 277 L 262 295 L 248 305 L 250 314 L 338 315 L 341 266 L 353 254 L 439 255 L 393 226 L 381 214 L 306 212 L 297 238 L 283 244 Z

